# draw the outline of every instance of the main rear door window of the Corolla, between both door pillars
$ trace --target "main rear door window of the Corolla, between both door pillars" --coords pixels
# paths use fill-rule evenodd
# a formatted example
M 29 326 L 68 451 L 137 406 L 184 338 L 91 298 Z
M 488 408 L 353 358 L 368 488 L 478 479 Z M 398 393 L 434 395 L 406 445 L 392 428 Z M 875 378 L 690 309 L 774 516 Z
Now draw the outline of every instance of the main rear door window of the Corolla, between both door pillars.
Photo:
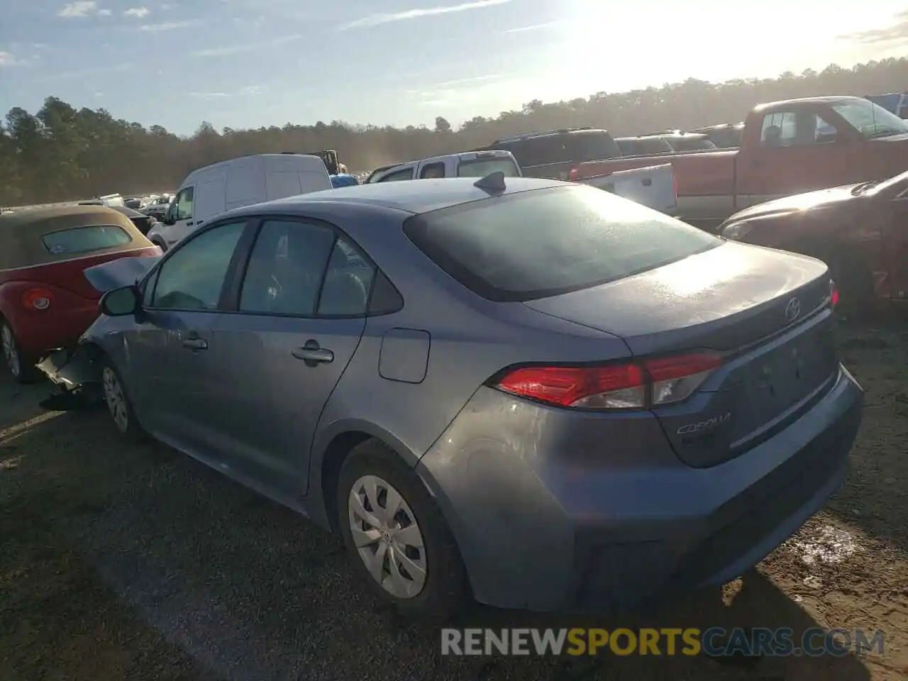
M 262 224 L 246 268 L 240 311 L 311 317 L 334 247 L 334 232 L 305 222 Z

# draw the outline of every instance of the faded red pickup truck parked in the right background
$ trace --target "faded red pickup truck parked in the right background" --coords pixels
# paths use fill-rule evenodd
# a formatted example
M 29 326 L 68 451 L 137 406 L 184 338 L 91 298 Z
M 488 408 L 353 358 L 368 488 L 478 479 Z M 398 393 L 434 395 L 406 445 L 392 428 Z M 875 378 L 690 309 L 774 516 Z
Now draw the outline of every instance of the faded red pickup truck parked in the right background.
M 755 203 L 902 173 L 908 121 L 862 97 L 761 104 L 748 114 L 737 149 L 589 161 L 570 177 L 582 182 L 656 163 L 672 164 L 679 216 L 724 220 Z

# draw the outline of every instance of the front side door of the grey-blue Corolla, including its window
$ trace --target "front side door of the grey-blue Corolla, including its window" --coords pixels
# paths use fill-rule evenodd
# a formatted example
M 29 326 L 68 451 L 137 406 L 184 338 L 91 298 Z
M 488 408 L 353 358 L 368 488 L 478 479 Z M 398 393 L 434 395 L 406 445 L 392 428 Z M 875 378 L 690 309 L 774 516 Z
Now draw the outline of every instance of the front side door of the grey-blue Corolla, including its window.
M 245 220 L 212 225 L 176 246 L 143 284 L 143 310 L 128 347 L 136 413 L 156 437 L 211 455 L 212 393 L 222 381 L 212 365 L 211 330 L 229 283 Z

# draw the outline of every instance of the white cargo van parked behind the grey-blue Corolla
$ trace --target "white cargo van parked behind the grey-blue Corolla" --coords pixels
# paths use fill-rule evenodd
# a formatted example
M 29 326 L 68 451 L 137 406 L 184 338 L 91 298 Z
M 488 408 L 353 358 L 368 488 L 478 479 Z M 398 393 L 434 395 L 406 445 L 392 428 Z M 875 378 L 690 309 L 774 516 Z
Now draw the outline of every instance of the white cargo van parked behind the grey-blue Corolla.
M 331 188 L 318 156 L 259 153 L 206 165 L 183 180 L 163 222 L 154 225 L 148 238 L 166 251 L 218 213 Z

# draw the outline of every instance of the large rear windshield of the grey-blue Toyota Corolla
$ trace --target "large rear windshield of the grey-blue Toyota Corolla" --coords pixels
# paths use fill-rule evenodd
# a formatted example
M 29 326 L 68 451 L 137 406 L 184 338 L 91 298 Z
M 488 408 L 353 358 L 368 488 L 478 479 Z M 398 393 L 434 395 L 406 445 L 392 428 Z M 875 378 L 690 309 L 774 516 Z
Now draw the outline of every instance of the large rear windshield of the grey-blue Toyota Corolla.
M 587 186 L 464 203 L 414 216 L 404 231 L 442 270 L 490 301 L 531 301 L 590 288 L 721 243 Z

